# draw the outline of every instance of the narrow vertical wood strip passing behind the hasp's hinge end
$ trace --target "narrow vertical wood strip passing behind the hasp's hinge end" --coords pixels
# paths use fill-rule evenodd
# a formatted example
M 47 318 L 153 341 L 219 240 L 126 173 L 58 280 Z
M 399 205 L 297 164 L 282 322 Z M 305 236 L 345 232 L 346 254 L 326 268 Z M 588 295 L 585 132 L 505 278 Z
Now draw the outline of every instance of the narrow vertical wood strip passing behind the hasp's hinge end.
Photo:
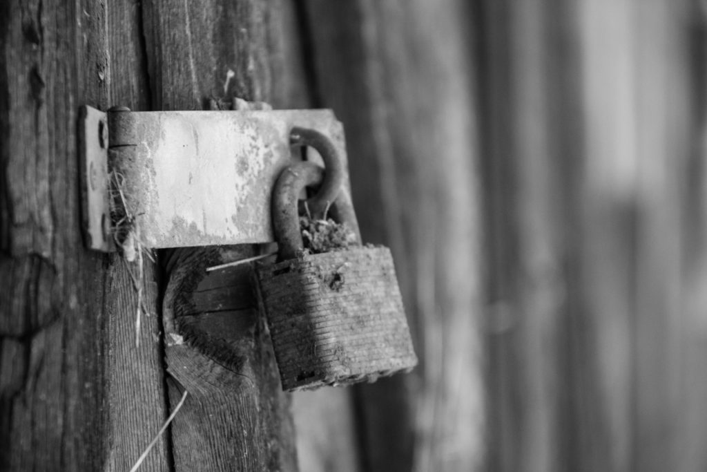
M 142 11 L 132 1 L 112 0 L 107 4 L 107 42 L 110 49 L 110 105 L 132 110 L 150 110 L 147 57 L 142 35 Z M 107 470 L 129 470 L 157 434 L 169 415 L 162 323 L 158 300 L 156 264 L 144 258 L 142 300 L 149 313 L 141 314 L 139 345 L 136 345 L 138 297 L 132 277 L 138 263 L 110 258 L 107 270 L 107 331 L 105 380 L 110 430 L 107 436 Z M 141 465 L 141 471 L 170 469 L 168 435 L 163 434 Z

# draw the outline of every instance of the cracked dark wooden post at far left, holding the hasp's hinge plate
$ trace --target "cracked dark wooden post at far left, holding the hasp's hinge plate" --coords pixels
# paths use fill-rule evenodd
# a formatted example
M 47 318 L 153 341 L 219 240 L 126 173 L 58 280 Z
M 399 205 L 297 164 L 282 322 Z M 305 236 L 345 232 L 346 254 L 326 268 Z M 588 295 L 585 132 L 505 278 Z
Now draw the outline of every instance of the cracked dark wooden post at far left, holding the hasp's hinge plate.
M 126 266 L 115 255 L 86 251 L 81 241 L 78 105 L 105 109 L 116 96 L 136 109 L 148 103 L 139 90 L 139 15 L 128 4 L 112 4 L 110 21 L 106 4 L 93 1 L 1 7 L 6 470 L 127 470 L 165 420 L 155 272 L 146 265 L 144 298 L 153 316 L 144 318 L 136 347 L 136 292 Z M 109 34 L 109 23 L 123 27 Z M 167 443 L 160 441 L 145 470 L 167 467 Z

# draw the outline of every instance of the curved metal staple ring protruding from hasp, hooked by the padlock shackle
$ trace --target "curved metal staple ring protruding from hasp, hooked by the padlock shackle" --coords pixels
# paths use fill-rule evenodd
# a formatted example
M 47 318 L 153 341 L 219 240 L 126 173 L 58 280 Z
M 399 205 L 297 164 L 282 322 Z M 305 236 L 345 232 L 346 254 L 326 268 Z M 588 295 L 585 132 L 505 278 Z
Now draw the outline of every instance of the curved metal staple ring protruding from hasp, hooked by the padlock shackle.
M 336 146 L 331 139 L 316 129 L 298 126 L 290 130 L 290 144 L 311 146 L 322 156 L 327 173 L 325 173 L 317 195 L 307 199 L 307 206 L 312 212 L 325 212 L 325 209 L 337 199 L 341 185 L 344 184 L 344 166 L 341 164 Z

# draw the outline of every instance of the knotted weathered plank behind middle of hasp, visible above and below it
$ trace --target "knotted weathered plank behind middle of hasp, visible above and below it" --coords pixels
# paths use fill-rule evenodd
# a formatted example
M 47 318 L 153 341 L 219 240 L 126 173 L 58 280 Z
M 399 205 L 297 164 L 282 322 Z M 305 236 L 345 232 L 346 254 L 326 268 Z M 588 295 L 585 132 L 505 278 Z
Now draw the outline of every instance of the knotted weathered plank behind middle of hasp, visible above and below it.
M 144 31 L 153 108 L 198 110 L 210 96 L 288 99 L 281 91 L 274 92 L 275 84 L 292 81 L 286 78 L 291 72 L 278 50 L 286 39 L 274 27 L 281 22 L 280 5 L 279 1 L 146 2 Z M 283 78 L 275 77 L 273 70 Z M 239 336 L 230 341 L 220 339 L 194 315 L 200 312 L 210 318 L 206 324 L 225 323 L 209 315 L 214 307 L 189 310 L 181 321 L 177 314 L 180 306 L 193 306 L 187 300 L 194 290 L 210 287 L 245 293 L 238 286 L 250 285 L 247 272 L 238 272 L 240 282 L 230 289 L 221 282 L 209 286 L 215 276 L 206 275 L 204 268 L 254 251 L 252 246 L 184 249 L 173 251 L 164 261 L 166 362 L 176 380 L 168 382 L 172 405 L 185 388 L 189 392 L 171 428 L 177 470 L 297 468 L 290 397 L 281 391 L 255 301 L 244 299 L 249 307 L 234 312 L 240 319 L 232 323 L 240 328 L 229 332 Z

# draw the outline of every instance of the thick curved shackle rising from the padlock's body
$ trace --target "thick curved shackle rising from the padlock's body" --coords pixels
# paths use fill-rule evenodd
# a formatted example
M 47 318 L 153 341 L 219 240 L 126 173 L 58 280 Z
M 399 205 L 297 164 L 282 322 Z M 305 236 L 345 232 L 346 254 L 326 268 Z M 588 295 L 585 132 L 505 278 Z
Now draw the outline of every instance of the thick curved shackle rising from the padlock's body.
M 311 162 L 293 164 L 282 171 L 277 179 L 272 192 L 272 221 L 279 260 L 294 259 L 303 250 L 298 197 L 305 187 L 320 185 L 322 180 L 325 180 L 325 169 Z M 356 235 L 356 241 L 361 243 L 354 206 L 345 191 L 339 192 L 329 212 L 335 221 L 349 226 Z

